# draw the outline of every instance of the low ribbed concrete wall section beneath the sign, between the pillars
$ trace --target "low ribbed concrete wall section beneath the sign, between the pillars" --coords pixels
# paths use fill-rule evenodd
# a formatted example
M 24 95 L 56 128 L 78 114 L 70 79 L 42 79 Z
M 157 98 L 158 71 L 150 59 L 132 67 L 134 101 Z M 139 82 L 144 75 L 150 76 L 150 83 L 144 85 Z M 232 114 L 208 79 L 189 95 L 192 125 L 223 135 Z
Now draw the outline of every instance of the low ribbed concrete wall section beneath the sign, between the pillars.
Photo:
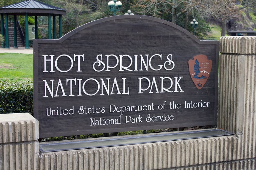
M 39 168 L 149 170 L 198 166 L 237 159 L 239 155 L 234 152 L 237 144 L 238 138 L 233 135 L 65 152 L 44 152 L 41 153 Z

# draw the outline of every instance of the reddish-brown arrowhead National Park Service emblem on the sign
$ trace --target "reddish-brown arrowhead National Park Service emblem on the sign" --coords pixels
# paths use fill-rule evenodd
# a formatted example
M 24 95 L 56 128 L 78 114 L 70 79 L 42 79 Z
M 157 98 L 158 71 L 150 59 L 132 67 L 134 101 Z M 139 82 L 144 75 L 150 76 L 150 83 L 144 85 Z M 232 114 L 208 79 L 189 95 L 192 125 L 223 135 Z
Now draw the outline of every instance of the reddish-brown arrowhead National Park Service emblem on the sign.
M 190 77 L 198 89 L 203 88 L 212 70 L 212 60 L 206 55 L 196 55 L 188 61 Z

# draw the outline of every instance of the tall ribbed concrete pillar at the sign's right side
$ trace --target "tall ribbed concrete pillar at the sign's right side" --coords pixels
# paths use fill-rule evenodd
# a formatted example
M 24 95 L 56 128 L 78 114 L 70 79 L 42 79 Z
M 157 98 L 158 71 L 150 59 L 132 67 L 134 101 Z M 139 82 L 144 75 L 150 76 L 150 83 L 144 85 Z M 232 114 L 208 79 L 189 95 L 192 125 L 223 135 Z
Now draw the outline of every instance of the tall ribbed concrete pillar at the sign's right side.
M 236 159 L 256 157 L 256 37 L 220 38 L 218 127 L 238 137 Z

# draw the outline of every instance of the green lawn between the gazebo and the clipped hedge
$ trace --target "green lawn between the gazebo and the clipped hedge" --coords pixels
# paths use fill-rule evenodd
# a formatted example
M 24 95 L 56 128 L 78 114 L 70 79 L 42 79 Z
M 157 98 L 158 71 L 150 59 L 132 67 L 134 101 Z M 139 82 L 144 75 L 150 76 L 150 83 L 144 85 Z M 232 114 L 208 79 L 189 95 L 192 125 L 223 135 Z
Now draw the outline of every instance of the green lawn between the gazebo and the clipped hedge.
M 0 80 L 33 80 L 33 55 L 0 53 Z

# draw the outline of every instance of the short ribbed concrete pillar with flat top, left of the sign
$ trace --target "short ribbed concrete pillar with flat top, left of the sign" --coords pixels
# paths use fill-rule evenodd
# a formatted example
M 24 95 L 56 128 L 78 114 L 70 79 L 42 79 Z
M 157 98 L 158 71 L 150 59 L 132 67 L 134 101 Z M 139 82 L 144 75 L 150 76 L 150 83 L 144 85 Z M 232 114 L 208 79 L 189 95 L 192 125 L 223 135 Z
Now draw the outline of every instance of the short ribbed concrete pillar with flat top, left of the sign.
M 38 125 L 29 113 L 0 114 L 0 169 L 38 169 Z

